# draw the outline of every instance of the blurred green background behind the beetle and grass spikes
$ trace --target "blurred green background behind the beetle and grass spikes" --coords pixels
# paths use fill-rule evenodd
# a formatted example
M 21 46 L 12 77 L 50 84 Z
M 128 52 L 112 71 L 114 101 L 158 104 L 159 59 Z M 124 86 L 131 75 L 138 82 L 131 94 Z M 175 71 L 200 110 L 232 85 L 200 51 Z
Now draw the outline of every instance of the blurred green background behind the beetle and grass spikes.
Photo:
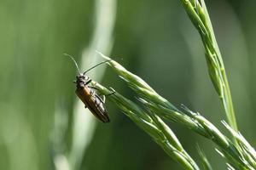
M 68 169 L 65 156 L 69 162 L 76 133 L 73 105 L 77 97 L 72 81 L 77 72 L 63 53 L 75 56 L 79 65 L 82 54 L 88 57 L 86 68 L 95 64 L 90 63 L 91 56 L 84 55 L 84 49 L 97 47 L 91 44 L 96 34 L 96 8 L 102 1 L 0 0 L 0 169 Z M 224 57 L 239 129 L 255 146 L 256 3 L 206 3 Z M 224 111 L 207 75 L 200 37 L 181 3 L 112 1 L 102 10 L 109 8 L 116 10 L 113 16 L 105 16 L 115 18 L 112 38 L 105 41 L 108 47 L 96 49 L 113 56 L 173 104 L 188 105 L 224 130 L 220 123 Z M 98 43 L 106 29 L 100 26 Z M 113 71 L 107 69 L 101 75 L 96 77 L 103 85 L 134 99 Z M 107 108 L 112 122 L 90 119 L 95 128 L 90 130 L 92 138 L 76 169 L 181 169 L 108 101 Z M 176 123 L 169 124 L 195 161 L 200 162 L 195 148 L 198 143 L 213 168 L 225 169 L 211 141 Z

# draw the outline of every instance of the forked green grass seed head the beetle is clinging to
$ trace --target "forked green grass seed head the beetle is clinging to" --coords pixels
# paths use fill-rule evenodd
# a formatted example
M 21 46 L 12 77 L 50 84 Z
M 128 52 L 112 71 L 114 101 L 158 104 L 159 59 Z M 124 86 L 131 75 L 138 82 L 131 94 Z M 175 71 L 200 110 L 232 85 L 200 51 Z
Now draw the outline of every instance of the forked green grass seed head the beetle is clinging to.
M 101 54 L 104 59 L 108 59 L 108 57 Z M 137 123 L 139 127 L 142 127 L 145 132 L 147 132 L 158 144 L 162 146 L 162 144 L 166 144 L 167 137 L 173 136 L 171 129 L 167 127 L 166 124 L 160 119 L 160 117 L 172 121 L 183 124 L 185 127 L 191 128 L 195 133 L 199 133 L 207 139 L 211 139 L 213 143 L 218 145 L 218 150 L 222 156 L 226 158 L 227 163 L 230 163 L 231 166 L 239 168 L 239 169 L 253 169 L 255 167 L 255 155 L 253 148 L 246 142 L 246 140 L 242 140 L 241 136 L 237 135 L 236 131 L 229 127 L 226 123 L 224 123 L 225 127 L 227 127 L 234 139 L 239 139 L 240 146 L 236 146 L 236 143 L 232 142 L 228 139 L 223 133 L 221 133 L 217 127 L 215 127 L 211 122 L 209 122 L 204 116 L 201 116 L 199 113 L 190 111 L 187 107 L 183 106 L 183 111 L 178 111 L 175 106 L 169 103 L 166 99 L 162 98 L 159 94 L 157 94 L 152 88 L 148 86 L 146 82 L 143 81 L 142 78 L 137 77 L 137 75 L 132 74 L 130 71 L 127 71 L 122 65 L 119 65 L 113 59 L 110 60 L 109 65 L 113 70 L 124 80 L 127 85 L 134 90 L 137 94 L 138 100 L 141 102 L 144 108 L 148 113 L 145 113 L 143 110 L 139 109 L 139 107 L 131 102 L 129 99 L 125 99 L 122 95 L 117 92 L 111 95 L 109 98 L 113 99 L 114 103 L 119 106 L 121 111 L 125 112 L 126 116 L 129 116 L 131 120 Z M 98 83 L 93 83 L 96 88 L 99 88 L 102 94 L 110 94 L 107 88 L 102 87 Z M 112 90 L 114 91 L 114 90 Z M 152 119 L 149 118 L 151 116 Z M 161 126 L 159 125 L 158 120 L 162 122 Z M 155 122 L 156 121 L 156 122 Z M 166 132 L 170 132 L 169 134 Z M 160 138 L 162 135 L 166 135 L 164 139 Z M 237 138 L 237 137 L 240 138 Z M 241 142 L 243 141 L 243 142 Z M 181 144 L 179 144 L 176 137 L 168 140 L 168 144 L 172 144 L 172 146 L 177 149 L 182 149 Z M 162 148 L 166 151 L 166 147 Z M 247 148 L 247 149 L 245 149 Z M 241 150 L 243 149 L 243 150 Z M 251 150 L 250 153 L 247 153 L 248 150 Z M 168 154 L 172 153 L 172 158 L 177 160 L 183 167 L 187 169 L 191 169 L 188 167 L 188 163 L 184 162 L 185 159 L 181 159 L 180 155 L 175 155 L 173 149 L 169 148 L 166 151 Z M 174 154 L 174 156 L 173 156 Z M 193 162 L 193 163 L 192 163 Z M 191 161 L 191 165 L 194 165 L 194 161 Z M 194 169 L 198 167 L 195 166 Z

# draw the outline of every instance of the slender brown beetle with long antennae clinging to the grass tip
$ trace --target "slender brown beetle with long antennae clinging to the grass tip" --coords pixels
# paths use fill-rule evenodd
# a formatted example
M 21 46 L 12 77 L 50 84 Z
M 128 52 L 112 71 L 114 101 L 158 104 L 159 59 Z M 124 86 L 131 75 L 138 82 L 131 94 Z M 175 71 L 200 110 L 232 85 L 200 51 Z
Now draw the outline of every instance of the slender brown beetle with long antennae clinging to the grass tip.
M 92 66 L 87 71 L 84 71 L 84 73 L 81 73 L 79 70 L 79 66 L 78 66 L 77 62 L 75 61 L 75 59 L 73 59 L 73 57 L 69 54 L 65 54 L 65 55 L 67 55 L 68 57 L 70 57 L 70 59 L 73 60 L 74 64 L 77 67 L 77 70 L 79 71 L 79 75 L 76 77 L 76 81 L 73 81 L 73 82 L 76 84 L 75 93 L 77 94 L 79 99 L 81 99 L 83 101 L 84 107 L 88 108 L 90 110 L 90 112 L 94 116 L 96 116 L 96 118 L 98 118 L 100 121 L 110 122 L 110 119 L 108 116 L 108 111 L 106 110 L 104 104 L 105 104 L 106 96 L 114 94 L 114 92 L 112 92 L 111 94 L 102 95 L 102 98 L 101 98 L 99 96 L 99 94 L 96 94 L 96 91 L 94 90 L 94 89 L 96 89 L 96 90 L 98 90 L 98 89 L 95 87 L 89 86 L 89 84 L 92 80 L 90 79 L 90 77 L 85 76 L 85 74 L 86 74 L 86 72 L 94 69 L 96 66 L 102 65 L 103 63 L 107 63 L 111 59 L 102 61 L 99 64 Z

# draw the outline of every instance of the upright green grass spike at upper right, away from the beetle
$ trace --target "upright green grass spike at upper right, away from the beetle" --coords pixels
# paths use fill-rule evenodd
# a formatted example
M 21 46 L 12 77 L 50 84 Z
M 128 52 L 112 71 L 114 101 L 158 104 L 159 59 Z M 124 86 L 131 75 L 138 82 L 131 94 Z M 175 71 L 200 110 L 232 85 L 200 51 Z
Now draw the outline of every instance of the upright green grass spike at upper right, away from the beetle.
M 210 17 L 204 0 L 189 1 L 181 0 L 190 20 L 200 33 L 203 42 L 208 72 L 211 77 L 213 86 L 221 99 L 226 116 L 231 127 L 237 130 L 236 116 L 233 108 L 232 98 L 230 94 L 230 86 L 226 77 L 222 56 L 218 49 Z

